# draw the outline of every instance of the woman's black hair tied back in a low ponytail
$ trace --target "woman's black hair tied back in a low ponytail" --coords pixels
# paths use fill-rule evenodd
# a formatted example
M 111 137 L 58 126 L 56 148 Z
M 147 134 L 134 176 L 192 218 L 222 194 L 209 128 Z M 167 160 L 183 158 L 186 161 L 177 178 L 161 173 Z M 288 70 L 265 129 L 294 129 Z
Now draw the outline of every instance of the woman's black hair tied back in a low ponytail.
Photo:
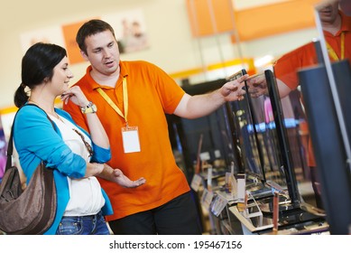
M 22 83 L 14 93 L 14 105 L 21 108 L 28 100 L 25 87 L 33 89 L 46 80 L 51 80 L 53 69 L 67 56 L 64 48 L 56 44 L 38 42 L 33 44 L 22 59 Z

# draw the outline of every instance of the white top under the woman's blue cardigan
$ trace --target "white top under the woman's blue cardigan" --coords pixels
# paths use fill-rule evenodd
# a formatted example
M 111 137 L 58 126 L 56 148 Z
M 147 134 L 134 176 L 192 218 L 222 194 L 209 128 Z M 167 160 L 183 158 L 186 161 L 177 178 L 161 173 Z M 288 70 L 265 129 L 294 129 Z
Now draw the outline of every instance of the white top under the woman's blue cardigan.
M 91 140 L 82 131 L 74 126 L 69 120 L 64 117 L 51 116 L 51 119 L 59 127 L 61 136 L 66 145 L 69 146 L 70 150 L 74 154 L 82 156 L 87 162 L 89 162 L 89 153 L 86 145 L 84 144 L 81 137 L 72 130 L 77 129 L 79 133 L 84 136 L 84 139 L 91 145 Z M 97 214 L 98 211 L 105 204 L 105 199 L 101 192 L 100 183 L 98 183 L 95 176 L 89 176 L 85 178 L 75 179 L 68 178 L 69 183 L 69 203 L 67 204 L 64 216 L 84 216 Z

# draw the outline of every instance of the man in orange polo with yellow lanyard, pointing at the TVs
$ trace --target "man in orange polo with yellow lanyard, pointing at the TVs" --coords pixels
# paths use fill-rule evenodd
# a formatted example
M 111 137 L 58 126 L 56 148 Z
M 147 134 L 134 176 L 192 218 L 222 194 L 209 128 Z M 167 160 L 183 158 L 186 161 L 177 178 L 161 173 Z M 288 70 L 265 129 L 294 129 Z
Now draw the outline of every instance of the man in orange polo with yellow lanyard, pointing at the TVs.
M 163 70 L 146 61 L 120 61 L 115 33 L 101 20 L 84 23 L 76 38 L 83 57 L 90 61 L 77 82 L 109 136 L 112 159 L 132 180 L 144 185 L 122 188 L 100 179 L 114 214 L 107 216 L 115 234 L 200 234 L 198 215 L 185 175 L 174 161 L 165 117 L 208 115 L 226 101 L 243 98 L 247 76 L 221 89 L 191 97 Z M 64 105 L 79 126 L 84 113 Z M 83 108 L 83 111 L 86 108 Z M 90 105 L 89 111 L 95 110 Z

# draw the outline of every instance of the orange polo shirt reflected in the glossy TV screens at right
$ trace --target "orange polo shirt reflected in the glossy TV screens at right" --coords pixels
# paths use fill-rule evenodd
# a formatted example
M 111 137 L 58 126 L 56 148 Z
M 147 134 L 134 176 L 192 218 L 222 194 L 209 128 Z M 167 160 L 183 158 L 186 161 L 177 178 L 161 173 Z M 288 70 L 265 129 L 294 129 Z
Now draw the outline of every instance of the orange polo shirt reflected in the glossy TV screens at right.
M 341 60 L 341 33 L 345 34 L 345 59 L 351 65 L 351 17 L 346 16 L 339 11 L 341 15 L 341 28 L 335 34 L 324 31 L 326 41 L 329 43 L 337 57 Z M 329 57 L 330 58 L 330 57 Z M 330 61 L 334 61 L 330 58 Z M 313 42 L 301 46 L 300 48 L 282 56 L 274 64 L 274 74 L 279 80 L 282 80 L 290 89 L 296 89 L 299 86 L 297 71 L 300 68 L 315 65 L 318 63 L 317 53 Z M 309 166 L 316 166 L 311 142 L 309 142 Z

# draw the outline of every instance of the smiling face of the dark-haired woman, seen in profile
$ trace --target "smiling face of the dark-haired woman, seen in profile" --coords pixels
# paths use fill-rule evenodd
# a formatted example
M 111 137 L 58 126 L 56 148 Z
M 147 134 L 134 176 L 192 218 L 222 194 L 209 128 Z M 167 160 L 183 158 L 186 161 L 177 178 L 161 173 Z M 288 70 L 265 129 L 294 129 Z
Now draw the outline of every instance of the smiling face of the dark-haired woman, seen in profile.
M 69 89 L 69 80 L 73 78 L 73 73 L 69 70 L 69 61 L 65 56 L 53 69 L 51 87 L 56 96 Z

